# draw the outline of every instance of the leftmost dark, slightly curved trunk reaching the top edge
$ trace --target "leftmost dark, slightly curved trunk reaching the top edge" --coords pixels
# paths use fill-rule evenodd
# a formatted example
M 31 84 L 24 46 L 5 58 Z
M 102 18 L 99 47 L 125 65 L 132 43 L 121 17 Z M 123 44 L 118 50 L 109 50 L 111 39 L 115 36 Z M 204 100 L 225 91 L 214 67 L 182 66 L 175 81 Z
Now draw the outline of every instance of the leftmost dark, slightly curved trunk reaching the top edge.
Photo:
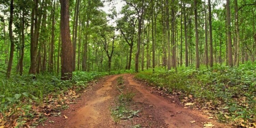
M 10 2 L 10 19 L 9 19 L 9 37 L 11 42 L 11 48 L 10 48 L 10 56 L 8 61 L 8 67 L 6 71 L 6 77 L 9 78 L 11 75 L 12 70 L 12 61 L 13 61 L 13 54 L 14 54 L 14 40 L 13 40 L 13 34 L 12 34 L 12 23 L 13 23 L 13 1 Z

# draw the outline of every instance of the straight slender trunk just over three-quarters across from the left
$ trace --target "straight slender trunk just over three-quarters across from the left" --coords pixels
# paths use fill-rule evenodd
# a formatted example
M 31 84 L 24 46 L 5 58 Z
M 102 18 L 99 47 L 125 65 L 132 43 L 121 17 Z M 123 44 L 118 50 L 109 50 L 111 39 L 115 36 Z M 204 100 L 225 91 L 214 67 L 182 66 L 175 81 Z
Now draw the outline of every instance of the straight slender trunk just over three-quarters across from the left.
M 194 12 L 195 12 L 195 31 L 196 31 L 196 68 L 199 69 L 198 27 L 197 27 L 197 0 L 194 0 Z

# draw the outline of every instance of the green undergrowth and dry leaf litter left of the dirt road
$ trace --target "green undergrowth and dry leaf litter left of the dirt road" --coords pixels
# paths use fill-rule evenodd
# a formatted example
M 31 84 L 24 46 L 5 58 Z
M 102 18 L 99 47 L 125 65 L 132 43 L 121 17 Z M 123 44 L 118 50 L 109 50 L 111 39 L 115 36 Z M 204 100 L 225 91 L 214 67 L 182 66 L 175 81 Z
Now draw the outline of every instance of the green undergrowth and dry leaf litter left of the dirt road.
M 31 123 L 38 125 L 47 116 L 63 116 L 60 110 L 75 103 L 88 82 L 107 74 L 78 71 L 69 81 L 47 73 L 15 75 L 8 80 L 0 74 L 0 124 L 9 123 L 10 127 L 12 124 L 17 127 Z

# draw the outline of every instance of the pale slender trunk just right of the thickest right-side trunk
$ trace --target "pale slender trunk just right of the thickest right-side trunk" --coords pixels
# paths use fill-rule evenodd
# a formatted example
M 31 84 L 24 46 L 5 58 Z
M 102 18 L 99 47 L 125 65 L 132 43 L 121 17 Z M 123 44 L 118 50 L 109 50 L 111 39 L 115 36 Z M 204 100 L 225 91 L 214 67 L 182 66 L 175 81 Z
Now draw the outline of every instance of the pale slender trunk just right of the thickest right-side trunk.
M 235 19 L 236 19 L 236 32 L 237 32 L 237 61 L 236 66 L 239 66 L 239 58 L 240 58 L 240 35 L 239 35 L 239 24 L 238 24 L 238 5 L 237 0 L 234 0 L 234 9 L 235 9 Z

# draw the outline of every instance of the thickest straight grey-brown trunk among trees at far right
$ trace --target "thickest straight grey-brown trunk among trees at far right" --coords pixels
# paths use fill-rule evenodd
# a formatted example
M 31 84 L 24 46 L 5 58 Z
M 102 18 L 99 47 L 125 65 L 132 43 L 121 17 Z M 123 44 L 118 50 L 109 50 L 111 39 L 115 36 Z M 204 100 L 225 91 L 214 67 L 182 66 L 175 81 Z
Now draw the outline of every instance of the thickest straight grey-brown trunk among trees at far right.
M 233 67 L 233 57 L 232 57 L 232 39 L 231 39 L 231 27 L 230 27 L 230 1 L 227 0 L 226 9 L 227 9 L 227 37 L 228 37 L 228 65 Z

